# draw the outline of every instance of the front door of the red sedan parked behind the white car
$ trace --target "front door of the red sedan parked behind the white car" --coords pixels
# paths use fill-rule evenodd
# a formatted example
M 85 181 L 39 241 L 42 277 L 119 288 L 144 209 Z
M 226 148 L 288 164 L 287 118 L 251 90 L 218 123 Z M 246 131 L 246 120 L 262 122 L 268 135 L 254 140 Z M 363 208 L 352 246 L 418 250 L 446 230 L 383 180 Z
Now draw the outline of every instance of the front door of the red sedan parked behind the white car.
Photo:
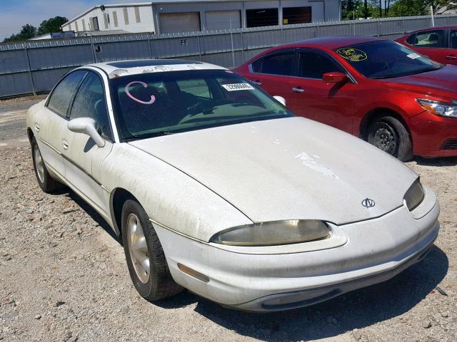
M 353 133 L 356 84 L 326 83 L 323 73 L 346 73 L 333 57 L 313 48 L 298 51 L 298 77 L 293 78 L 288 105 L 296 115 Z

